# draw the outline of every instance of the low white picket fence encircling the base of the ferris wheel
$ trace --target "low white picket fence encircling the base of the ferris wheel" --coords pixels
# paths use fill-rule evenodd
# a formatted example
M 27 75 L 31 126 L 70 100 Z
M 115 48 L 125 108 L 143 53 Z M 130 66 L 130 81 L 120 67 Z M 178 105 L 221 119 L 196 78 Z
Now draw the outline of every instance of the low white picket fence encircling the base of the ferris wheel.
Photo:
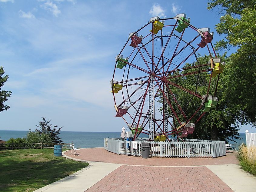
M 225 141 L 142 141 L 139 140 L 138 149 L 133 149 L 133 141 L 125 141 L 120 138 L 105 138 L 104 148 L 107 151 L 141 156 L 142 142 L 150 143 L 152 157 L 199 157 L 215 158 L 226 155 Z

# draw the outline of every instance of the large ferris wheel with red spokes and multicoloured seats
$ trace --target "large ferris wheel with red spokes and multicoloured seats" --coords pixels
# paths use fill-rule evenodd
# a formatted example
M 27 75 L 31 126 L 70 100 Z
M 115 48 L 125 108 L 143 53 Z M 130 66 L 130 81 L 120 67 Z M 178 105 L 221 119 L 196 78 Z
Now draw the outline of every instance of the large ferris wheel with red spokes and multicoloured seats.
M 133 140 L 141 133 L 147 134 L 149 141 L 167 141 L 171 134 L 183 140 L 194 132 L 203 115 L 216 107 L 218 79 L 224 62 L 217 58 L 212 39 L 209 28 L 194 27 L 185 14 L 164 19 L 153 17 L 130 33 L 115 58 L 110 85 L 116 117 L 125 121 Z M 210 60 L 200 63 L 198 53 L 210 55 Z M 208 88 L 204 94 L 198 93 L 200 84 L 196 81 L 193 82 L 196 88 L 179 82 L 181 77 L 199 74 L 206 76 L 204 86 Z M 212 81 L 213 78 L 216 80 Z M 188 100 L 186 105 L 194 107 L 192 114 L 186 113 L 187 106 L 180 101 L 184 94 L 201 102 L 195 107 Z

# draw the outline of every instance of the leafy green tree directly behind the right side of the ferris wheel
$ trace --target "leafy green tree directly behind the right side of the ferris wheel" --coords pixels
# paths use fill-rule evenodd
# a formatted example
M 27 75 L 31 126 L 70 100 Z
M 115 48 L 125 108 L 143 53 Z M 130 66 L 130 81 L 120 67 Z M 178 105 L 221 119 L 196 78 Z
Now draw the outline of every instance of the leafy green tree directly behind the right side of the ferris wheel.
M 225 59 L 225 55 L 218 55 L 218 58 L 222 58 L 223 61 L 228 61 Z M 205 63 L 208 63 L 210 59 L 210 56 L 204 55 L 204 56 L 198 56 L 197 62 L 198 63 L 192 63 L 192 64 L 185 64 L 184 68 L 192 66 L 192 65 L 202 65 Z M 201 69 L 207 69 L 201 68 Z M 182 73 L 192 73 L 192 72 L 198 72 L 198 68 L 192 68 L 184 70 Z M 174 74 L 177 76 L 178 74 Z M 223 78 L 225 76 L 225 72 L 223 72 L 220 75 L 220 79 L 218 82 L 218 89 L 216 92 L 216 96 L 219 98 L 218 105 L 215 109 L 211 109 L 209 112 L 204 114 L 204 116 L 201 118 L 200 121 L 196 124 L 195 131 L 193 134 L 189 135 L 188 138 L 194 138 L 194 139 L 208 139 L 208 140 L 231 140 L 234 141 L 235 139 L 239 139 L 238 134 L 238 125 L 236 125 L 236 119 L 235 116 L 229 111 L 226 110 L 227 101 L 225 98 L 223 98 Z M 170 76 L 171 77 L 171 76 Z M 188 75 L 188 76 L 181 76 L 179 78 L 170 78 L 170 81 L 173 83 L 179 84 L 184 88 L 187 88 L 189 90 L 195 91 L 199 95 L 204 95 L 207 93 L 208 89 L 208 82 L 209 82 L 209 76 L 207 75 L 207 72 L 199 72 L 194 75 Z M 215 92 L 215 85 L 217 83 L 217 77 L 212 78 L 211 80 L 211 87 L 209 94 L 213 95 Z M 175 88 L 173 86 L 170 87 L 173 94 L 178 100 L 178 103 L 180 104 L 181 108 L 185 112 L 185 114 L 188 117 L 191 117 L 195 109 L 199 108 L 201 105 L 201 99 L 197 97 L 192 97 L 191 94 L 188 94 L 184 91 L 181 91 L 178 88 Z M 175 104 L 175 101 L 171 95 L 169 95 L 169 101 L 171 102 L 175 112 L 178 114 L 178 117 L 180 121 L 185 122 L 185 118 L 181 113 L 179 112 L 177 104 Z M 171 111 L 169 111 L 171 115 Z M 194 118 L 191 119 L 191 123 L 195 123 L 195 121 L 200 117 L 202 112 L 197 113 Z M 176 122 L 176 125 L 178 122 Z

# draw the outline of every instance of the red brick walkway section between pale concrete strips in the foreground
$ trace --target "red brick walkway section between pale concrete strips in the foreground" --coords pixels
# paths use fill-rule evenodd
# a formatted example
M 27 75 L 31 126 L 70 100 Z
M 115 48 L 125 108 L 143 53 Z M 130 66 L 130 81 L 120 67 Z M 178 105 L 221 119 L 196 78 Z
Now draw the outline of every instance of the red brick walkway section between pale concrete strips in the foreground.
M 233 191 L 207 167 L 126 166 L 86 191 Z

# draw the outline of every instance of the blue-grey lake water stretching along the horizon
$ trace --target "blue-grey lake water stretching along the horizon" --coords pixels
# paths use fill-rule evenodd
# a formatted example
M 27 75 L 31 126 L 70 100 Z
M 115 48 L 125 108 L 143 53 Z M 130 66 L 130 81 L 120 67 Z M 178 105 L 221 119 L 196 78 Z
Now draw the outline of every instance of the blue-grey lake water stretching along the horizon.
M 1 131 L 0 139 L 7 141 L 10 138 L 25 137 L 28 131 Z M 121 132 L 78 132 L 78 131 L 61 131 L 60 137 L 64 143 L 75 144 L 76 148 L 91 148 L 91 147 L 103 147 L 104 138 L 117 138 L 120 137 Z M 141 134 L 141 137 L 147 137 L 145 134 Z M 240 133 L 241 140 L 236 139 L 237 145 L 246 143 L 245 133 Z M 233 144 L 233 141 L 229 143 Z

